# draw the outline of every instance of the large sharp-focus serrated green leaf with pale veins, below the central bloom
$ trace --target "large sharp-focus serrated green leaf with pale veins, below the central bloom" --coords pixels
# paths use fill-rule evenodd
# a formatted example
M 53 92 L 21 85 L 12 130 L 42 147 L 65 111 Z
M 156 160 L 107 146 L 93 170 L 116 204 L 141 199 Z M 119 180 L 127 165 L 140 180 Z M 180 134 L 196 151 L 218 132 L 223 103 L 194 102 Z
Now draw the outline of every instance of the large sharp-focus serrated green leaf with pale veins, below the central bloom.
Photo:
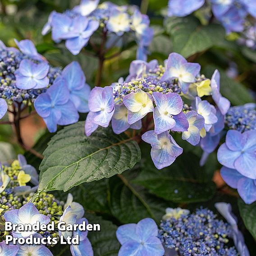
M 51 138 L 40 165 L 38 190 L 64 190 L 84 182 L 109 178 L 131 169 L 140 160 L 136 141 L 99 128 L 90 137 L 84 122 L 67 126 Z

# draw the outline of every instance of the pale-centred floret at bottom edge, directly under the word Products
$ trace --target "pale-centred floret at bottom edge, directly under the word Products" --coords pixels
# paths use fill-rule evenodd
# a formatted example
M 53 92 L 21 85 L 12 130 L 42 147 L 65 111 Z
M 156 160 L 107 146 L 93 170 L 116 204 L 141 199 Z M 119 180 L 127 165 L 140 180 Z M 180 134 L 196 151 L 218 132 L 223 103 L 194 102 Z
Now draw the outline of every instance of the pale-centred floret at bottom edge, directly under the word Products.
M 35 245 L 35 244 L 20 245 L 16 256 L 27 256 L 27 255 L 53 256 L 53 254 L 50 252 L 50 250 L 47 247 L 45 247 L 44 245 Z

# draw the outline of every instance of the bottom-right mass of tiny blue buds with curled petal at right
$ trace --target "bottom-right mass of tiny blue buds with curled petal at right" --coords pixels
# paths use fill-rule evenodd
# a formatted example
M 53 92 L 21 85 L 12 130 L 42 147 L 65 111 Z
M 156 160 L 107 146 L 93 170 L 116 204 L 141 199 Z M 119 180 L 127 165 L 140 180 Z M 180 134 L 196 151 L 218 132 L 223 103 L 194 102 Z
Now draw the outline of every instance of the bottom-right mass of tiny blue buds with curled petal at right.
M 167 208 L 158 232 L 165 255 L 249 256 L 242 233 L 226 205 L 218 203 L 216 208 L 228 223 L 216 219 L 217 215 L 208 209 L 200 208 L 190 213 L 180 208 Z

